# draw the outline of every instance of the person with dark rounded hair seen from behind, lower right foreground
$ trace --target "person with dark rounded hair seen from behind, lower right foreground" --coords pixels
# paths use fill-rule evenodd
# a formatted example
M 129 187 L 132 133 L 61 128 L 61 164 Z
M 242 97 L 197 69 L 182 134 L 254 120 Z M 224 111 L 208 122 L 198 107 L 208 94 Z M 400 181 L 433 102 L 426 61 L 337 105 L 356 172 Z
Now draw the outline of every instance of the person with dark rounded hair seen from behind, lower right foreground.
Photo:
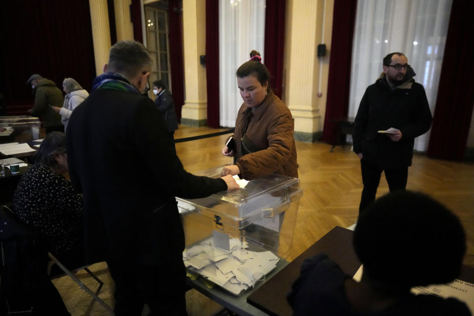
M 455 298 L 410 293 L 453 281 L 466 252 L 459 219 L 431 197 L 379 198 L 359 217 L 353 242 L 361 281 L 323 253 L 306 260 L 287 297 L 294 315 L 471 315 Z

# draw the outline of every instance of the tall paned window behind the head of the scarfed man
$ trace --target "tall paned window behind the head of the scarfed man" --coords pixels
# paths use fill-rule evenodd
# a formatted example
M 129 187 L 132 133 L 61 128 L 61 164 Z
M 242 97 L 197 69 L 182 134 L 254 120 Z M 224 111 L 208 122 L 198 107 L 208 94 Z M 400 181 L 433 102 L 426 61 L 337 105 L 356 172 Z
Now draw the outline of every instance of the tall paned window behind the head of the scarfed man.
M 154 60 L 155 67 L 150 76 L 150 84 L 161 79 L 170 87 L 169 49 L 168 49 L 168 12 L 147 5 L 145 7 L 145 26 L 147 28 L 147 48 Z

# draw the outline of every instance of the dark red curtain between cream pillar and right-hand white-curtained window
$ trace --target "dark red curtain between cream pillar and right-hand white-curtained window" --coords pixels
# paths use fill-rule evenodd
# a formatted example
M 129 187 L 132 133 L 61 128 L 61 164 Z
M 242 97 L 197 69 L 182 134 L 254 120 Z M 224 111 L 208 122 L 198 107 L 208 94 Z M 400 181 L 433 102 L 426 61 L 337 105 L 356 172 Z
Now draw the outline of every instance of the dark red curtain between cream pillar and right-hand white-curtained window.
M 357 0 L 335 0 L 327 84 L 326 116 L 321 140 L 335 144 L 338 123 L 349 109 L 352 41 L 356 23 Z

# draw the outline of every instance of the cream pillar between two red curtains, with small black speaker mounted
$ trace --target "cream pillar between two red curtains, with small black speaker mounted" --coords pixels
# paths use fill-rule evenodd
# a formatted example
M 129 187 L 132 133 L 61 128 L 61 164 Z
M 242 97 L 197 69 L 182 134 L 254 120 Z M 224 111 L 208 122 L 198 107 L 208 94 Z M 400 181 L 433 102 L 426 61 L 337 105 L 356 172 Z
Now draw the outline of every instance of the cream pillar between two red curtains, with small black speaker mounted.
M 283 101 L 295 119 L 297 140 L 314 141 L 322 131 L 333 7 L 334 0 L 287 0 Z M 327 50 L 321 59 L 317 57 L 320 43 Z

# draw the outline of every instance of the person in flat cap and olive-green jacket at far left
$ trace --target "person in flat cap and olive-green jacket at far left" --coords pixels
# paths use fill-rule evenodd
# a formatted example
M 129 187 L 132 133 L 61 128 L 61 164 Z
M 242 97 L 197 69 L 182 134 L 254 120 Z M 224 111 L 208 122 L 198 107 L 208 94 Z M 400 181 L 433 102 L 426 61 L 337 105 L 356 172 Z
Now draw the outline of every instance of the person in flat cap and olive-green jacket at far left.
M 56 86 L 56 83 L 38 74 L 34 74 L 30 76 L 26 84 L 31 84 L 32 93 L 35 96 L 35 105 L 28 112 L 34 117 L 43 119 L 46 134 L 52 131 L 64 131 L 61 116 L 51 108 L 60 108 L 64 102 L 63 93 Z

